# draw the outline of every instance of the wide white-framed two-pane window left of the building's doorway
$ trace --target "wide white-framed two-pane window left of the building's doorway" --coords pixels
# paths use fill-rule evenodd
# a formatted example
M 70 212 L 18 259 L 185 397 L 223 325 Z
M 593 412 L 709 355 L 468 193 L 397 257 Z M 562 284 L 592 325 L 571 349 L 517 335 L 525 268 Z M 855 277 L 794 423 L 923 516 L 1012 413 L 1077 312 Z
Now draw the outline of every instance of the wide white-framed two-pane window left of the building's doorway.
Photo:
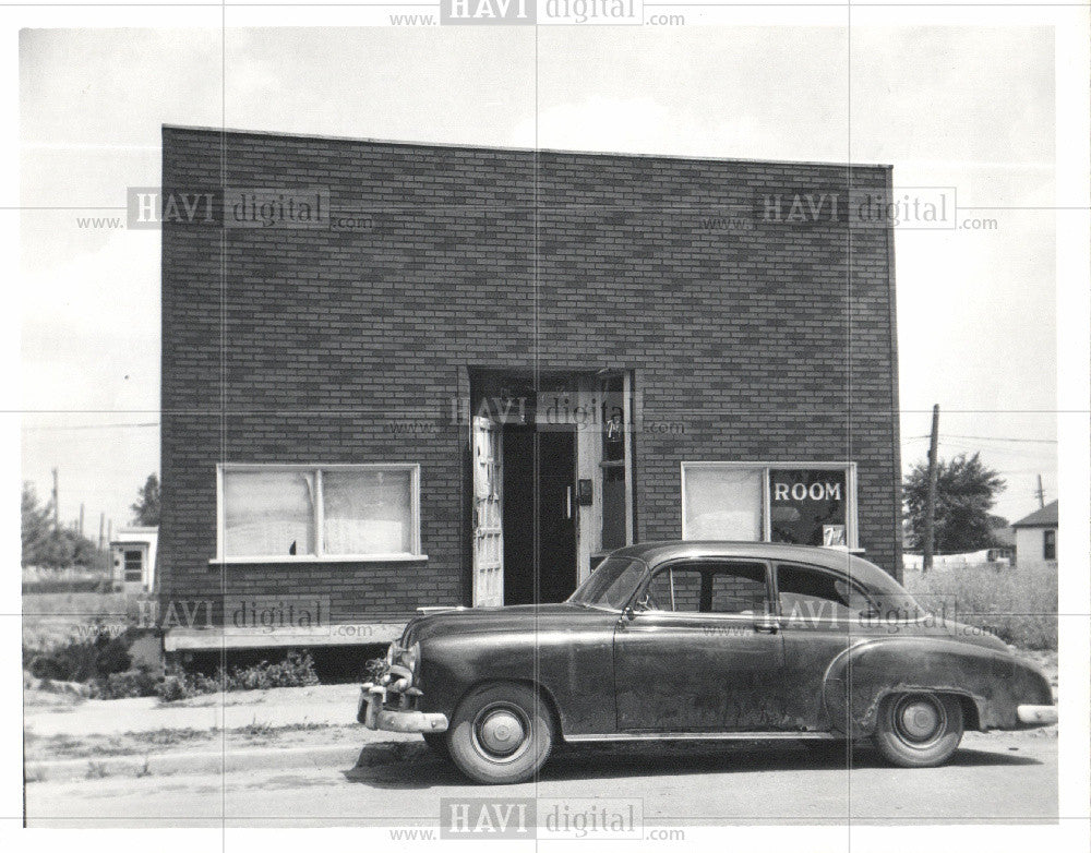
M 416 465 L 219 467 L 227 561 L 420 555 Z

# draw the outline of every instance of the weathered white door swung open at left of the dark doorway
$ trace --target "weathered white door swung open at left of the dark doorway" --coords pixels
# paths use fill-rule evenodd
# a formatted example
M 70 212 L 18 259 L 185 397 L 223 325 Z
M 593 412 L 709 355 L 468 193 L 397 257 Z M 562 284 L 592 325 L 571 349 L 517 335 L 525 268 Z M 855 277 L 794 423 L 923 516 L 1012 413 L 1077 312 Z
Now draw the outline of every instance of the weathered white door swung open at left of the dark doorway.
M 475 417 L 470 430 L 473 464 L 473 606 L 501 606 L 504 603 L 504 527 L 500 428 L 489 418 Z

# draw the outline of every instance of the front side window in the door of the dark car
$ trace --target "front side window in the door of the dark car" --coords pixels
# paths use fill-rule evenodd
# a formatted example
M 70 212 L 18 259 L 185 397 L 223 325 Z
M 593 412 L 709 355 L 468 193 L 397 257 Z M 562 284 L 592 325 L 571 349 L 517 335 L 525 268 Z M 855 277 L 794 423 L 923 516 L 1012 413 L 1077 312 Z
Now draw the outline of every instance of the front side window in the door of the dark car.
M 764 613 L 763 563 L 700 563 L 659 569 L 648 586 L 646 609 L 675 613 Z

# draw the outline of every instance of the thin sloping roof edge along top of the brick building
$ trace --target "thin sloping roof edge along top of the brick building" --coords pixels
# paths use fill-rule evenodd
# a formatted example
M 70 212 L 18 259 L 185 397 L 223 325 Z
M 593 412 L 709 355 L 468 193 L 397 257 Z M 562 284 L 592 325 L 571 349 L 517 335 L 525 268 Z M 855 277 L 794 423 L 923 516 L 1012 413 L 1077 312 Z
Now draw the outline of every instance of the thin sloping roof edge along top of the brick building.
M 849 163 L 829 160 L 772 160 L 753 157 L 711 157 L 691 156 L 683 154 L 639 154 L 634 152 L 609 152 L 609 151 L 580 151 L 576 148 L 532 148 L 518 145 L 470 145 L 461 142 L 417 142 L 412 140 L 383 140 L 374 136 L 338 136 L 325 133 L 288 133 L 284 131 L 245 130 L 243 128 L 215 128 L 200 124 L 170 124 L 164 123 L 164 130 L 189 131 L 193 133 L 219 133 L 238 136 L 269 136 L 274 139 L 287 140 L 325 140 L 328 142 L 364 143 L 370 145 L 393 145 L 406 148 L 437 148 L 456 151 L 494 152 L 496 154 L 519 153 L 519 154 L 567 154 L 586 157 L 622 157 L 630 159 L 657 159 L 657 160 L 680 160 L 683 163 L 741 163 L 741 164 L 772 164 L 777 166 L 823 166 L 827 168 L 843 169 L 886 169 L 894 170 L 892 164 L 887 163 Z

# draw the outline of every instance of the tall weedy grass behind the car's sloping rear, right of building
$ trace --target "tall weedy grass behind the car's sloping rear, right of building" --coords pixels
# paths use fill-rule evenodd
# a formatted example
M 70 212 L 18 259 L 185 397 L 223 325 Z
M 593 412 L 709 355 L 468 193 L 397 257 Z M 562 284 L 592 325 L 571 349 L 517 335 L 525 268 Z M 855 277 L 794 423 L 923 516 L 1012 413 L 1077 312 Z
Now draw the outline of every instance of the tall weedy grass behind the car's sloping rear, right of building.
M 907 572 L 906 588 L 932 612 L 1022 649 L 1057 648 L 1057 565 Z

